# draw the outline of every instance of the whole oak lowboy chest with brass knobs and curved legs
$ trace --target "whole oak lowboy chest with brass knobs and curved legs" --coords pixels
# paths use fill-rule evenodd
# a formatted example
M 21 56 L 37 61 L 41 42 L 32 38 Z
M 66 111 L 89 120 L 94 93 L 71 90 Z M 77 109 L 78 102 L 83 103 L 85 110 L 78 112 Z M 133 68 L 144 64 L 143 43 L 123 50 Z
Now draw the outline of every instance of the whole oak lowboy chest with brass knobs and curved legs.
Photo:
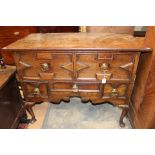
M 35 120 L 35 102 L 105 102 L 128 112 L 143 39 L 130 35 L 31 34 L 4 50 L 13 52 L 27 110 Z

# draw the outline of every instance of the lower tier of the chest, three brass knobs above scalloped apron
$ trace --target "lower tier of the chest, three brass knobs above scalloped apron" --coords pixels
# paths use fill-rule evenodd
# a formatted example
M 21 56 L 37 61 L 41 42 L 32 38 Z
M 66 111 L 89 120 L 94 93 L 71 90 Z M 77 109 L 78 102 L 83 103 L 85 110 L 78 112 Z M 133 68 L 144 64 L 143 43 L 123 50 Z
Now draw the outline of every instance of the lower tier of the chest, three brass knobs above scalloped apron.
M 25 99 L 32 102 L 69 101 L 70 97 L 80 97 L 83 102 L 94 104 L 110 102 L 114 105 L 128 104 L 132 84 L 127 83 L 79 83 L 29 81 L 22 83 Z

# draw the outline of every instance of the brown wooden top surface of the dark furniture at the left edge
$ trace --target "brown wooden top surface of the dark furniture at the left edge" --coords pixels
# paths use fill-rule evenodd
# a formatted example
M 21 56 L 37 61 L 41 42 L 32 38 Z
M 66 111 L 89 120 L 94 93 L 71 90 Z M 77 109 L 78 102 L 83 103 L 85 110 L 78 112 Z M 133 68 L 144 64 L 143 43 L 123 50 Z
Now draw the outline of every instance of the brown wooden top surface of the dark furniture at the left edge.
M 0 68 L 0 89 L 5 85 L 13 73 L 15 73 L 15 71 L 15 66 L 7 66 L 5 69 Z

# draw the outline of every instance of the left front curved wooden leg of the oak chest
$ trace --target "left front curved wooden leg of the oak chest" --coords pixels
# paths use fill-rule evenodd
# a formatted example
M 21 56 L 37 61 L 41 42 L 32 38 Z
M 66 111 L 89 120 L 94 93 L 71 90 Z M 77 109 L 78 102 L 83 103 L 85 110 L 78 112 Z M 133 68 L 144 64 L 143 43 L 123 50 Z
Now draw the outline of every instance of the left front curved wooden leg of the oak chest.
M 27 110 L 27 112 L 31 115 L 31 119 L 29 119 L 29 123 L 34 123 L 36 120 L 35 114 L 33 112 L 32 107 L 35 105 L 35 102 L 27 102 L 24 101 L 24 105 L 25 105 L 25 109 Z

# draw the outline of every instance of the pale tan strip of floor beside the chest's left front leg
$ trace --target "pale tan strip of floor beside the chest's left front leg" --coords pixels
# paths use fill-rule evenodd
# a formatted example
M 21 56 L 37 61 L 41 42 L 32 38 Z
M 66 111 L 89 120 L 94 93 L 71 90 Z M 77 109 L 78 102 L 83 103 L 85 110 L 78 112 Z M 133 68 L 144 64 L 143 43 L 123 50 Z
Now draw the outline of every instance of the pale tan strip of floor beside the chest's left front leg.
M 48 104 L 48 102 L 43 102 L 42 104 L 37 104 L 33 107 L 37 121 L 34 124 L 29 124 L 28 129 L 41 129 L 46 111 L 48 109 Z M 28 117 L 30 116 L 28 115 Z

